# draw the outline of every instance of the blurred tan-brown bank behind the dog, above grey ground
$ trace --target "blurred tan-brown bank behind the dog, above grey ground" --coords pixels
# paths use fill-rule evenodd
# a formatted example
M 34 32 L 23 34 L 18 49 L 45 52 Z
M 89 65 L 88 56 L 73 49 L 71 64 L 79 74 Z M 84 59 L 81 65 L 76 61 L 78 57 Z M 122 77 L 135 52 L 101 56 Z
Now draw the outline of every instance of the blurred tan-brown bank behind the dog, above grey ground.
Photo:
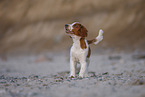
M 145 51 L 145 0 L 0 0 L 0 54 L 69 50 L 64 25 L 78 21 L 93 49 Z

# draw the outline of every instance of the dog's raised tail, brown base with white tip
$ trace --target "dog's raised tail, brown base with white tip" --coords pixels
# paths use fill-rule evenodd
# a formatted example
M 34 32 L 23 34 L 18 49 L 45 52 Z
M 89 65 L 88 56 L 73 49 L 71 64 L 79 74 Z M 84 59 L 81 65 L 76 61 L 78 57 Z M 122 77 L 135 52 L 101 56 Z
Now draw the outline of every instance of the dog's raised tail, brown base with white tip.
M 99 30 L 99 35 L 95 38 L 95 39 L 92 39 L 92 40 L 88 40 L 87 42 L 88 42 L 88 44 L 98 44 L 100 41 L 102 41 L 103 40 L 103 30 L 102 29 L 100 29 Z

